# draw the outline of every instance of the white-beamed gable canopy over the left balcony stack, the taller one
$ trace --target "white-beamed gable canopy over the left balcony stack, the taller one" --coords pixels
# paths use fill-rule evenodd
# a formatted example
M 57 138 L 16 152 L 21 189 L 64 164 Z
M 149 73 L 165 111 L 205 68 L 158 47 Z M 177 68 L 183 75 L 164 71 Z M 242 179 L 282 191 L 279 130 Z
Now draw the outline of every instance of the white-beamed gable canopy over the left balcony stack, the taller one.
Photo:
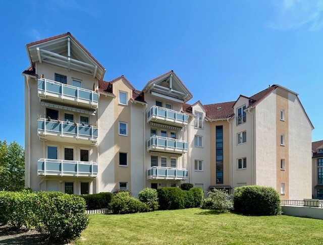
M 66 34 L 29 43 L 26 45 L 30 63 L 47 63 L 84 73 L 102 80 L 105 69 L 97 60 L 68 32 Z

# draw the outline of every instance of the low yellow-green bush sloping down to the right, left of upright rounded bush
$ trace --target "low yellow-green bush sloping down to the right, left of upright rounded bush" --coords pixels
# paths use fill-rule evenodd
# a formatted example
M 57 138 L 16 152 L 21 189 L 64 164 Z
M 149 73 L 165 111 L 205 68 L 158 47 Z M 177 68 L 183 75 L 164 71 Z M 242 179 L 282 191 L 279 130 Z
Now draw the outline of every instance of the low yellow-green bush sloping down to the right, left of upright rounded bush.
M 147 204 L 140 202 L 138 199 L 131 197 L 129 192 L 119 192 L 115 194 L 110 203 L 114 214 L 131 214 L 148 212 Z

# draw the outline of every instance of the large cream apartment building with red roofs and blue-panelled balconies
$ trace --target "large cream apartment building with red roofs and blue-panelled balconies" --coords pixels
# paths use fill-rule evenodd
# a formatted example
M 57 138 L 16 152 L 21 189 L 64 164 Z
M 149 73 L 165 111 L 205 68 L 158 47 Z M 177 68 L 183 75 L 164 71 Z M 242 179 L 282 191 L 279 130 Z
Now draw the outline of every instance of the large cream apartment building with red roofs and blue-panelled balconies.
M 311 130 L 297 94 L 270 86 L 236 101 L 188 103 L 170 71 L 137 90 L 70 33 L 26 45 L 26 187 L 74 194 L 193 183 L 206 192 L 272 186 L 311 196 Z

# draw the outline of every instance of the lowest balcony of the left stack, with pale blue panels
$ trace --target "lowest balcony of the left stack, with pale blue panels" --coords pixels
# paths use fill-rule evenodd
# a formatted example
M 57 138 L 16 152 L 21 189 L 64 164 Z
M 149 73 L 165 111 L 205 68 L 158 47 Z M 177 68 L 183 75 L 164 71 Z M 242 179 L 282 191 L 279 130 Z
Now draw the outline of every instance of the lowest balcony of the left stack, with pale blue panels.
M 97 164 L 41 158 L 37 162 L 37 172 L 43 176 L 97 177 Z

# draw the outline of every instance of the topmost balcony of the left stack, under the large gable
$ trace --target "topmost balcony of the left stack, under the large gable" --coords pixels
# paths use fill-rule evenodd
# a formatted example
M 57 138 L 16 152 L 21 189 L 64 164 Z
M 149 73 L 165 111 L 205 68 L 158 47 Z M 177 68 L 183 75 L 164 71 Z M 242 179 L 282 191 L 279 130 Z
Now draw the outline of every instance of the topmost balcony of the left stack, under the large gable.
M 98 94 L 94 91 L 48 79 L 38 79 L 38 97 L 86 108 L 96 109 L 98 106 Z

